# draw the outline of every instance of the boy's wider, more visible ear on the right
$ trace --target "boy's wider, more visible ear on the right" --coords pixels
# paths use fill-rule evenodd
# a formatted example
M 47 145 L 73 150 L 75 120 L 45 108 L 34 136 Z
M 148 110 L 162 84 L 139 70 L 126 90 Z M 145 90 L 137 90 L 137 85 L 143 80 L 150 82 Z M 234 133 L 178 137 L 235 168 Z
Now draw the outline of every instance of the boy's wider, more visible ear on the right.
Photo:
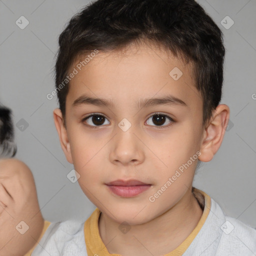
M 213 158 L 223 140 L 228 119 L 229 107 L 225 104 L 218 105 L 203 131 L 200 146 L 201 154 L 198 156 L 200 161 L 208 162 Z

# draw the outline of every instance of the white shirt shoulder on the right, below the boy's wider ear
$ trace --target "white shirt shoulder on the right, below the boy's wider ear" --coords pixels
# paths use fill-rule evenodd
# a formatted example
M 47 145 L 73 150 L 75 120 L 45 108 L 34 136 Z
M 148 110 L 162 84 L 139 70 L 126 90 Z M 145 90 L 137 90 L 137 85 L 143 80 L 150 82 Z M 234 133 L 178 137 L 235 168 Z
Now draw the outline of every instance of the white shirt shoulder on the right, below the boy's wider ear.
M 205 192 L 205 221 L 184 256 L 255 256 L 256 229 L 227 216 L 220 205 Z

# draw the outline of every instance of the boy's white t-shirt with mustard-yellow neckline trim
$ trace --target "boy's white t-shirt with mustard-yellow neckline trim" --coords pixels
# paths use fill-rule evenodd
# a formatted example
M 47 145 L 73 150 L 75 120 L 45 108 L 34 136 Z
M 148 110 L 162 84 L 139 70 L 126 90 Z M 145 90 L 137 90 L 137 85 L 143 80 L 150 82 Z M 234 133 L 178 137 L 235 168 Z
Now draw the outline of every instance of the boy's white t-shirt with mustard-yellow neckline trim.
M 198 231 L 194 232 L 194 236 L 189 235 L 177 249 L 164 256 L 255 256 L 256 229 L 235 218 L 225 216 L 218 203 L 201 192 L 205 206 L 196 227 Z M 31 256 L 112 255 L 108 253 L 98 231 L 92 232 L 95 237 L 88 237 L 92 235 L 89 228 L 98 228 L 99 213 L 99 209 L 96 208 L 86 220 L 88 229 L 84 221 L 50 223 Z M 103 250 L 98 248 L 99 244 L 104 247 Z

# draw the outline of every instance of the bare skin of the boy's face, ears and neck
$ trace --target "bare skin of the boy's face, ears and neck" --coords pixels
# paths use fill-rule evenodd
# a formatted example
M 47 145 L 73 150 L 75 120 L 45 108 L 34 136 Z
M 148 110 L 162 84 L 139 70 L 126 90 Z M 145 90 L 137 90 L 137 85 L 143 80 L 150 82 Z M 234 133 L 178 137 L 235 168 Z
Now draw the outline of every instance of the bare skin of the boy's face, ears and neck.
M 169 75 L 174 67 L 183 73 L 178 80 Z M 72 78 L 66 97 L 66 126 L 61 111 L 53 111 L 66 159 L 79 173 L 78 183 L 85 195 L 101 211 L 99 233 L 109 253 L 168 253 L 201 217 L 202 210 L 191 193 L 197 160 L 154 202 L 148 199 L 196 151 L 200 151 L 199 160 L 210 161 L 222 142 L 229 108 L 218 105 L 202 126 L 202 99 L 193 84 L 190 64 L 159 47 L 131 44 L 125 51 L 99 52 Z M 72 106 L 85 94 L 112 100 L 115 106 Z M 167 94 L 187 106 L 136 105 L 139 99 Z M 153 115 L 159 112 L 175 122 L 165 118 L 159 128 L 153 122 Z M 91 113 L 106 117 L 101 126 L 91 117 L 83 119 Z M 131 124 L 126 131 L 118 126 L 123 118 Z M 134 197 L 121 197 L 105 185 L 116 179 L 137 179 L 151 187 Z M 127 233 L 118 228 L 123 221 L 131 227 Z

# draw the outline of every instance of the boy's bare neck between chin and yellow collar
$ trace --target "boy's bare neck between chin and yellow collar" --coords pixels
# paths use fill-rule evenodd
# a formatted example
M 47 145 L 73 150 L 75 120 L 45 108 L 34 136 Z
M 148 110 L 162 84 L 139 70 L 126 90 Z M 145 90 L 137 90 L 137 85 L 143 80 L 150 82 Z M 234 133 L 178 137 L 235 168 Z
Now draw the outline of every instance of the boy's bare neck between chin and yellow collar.
M 201 215 L 202 209 L 191 189 L 188 189 L 173 207 L 149 222 L 132 225 L 125 234 L 117 234 L 120 223 L 101 212 L 98 221 L 99 234 L 109 253 L 147 256 L 150 252 L 153 255 L 162 255 L 172 251 L 186 239 Z

